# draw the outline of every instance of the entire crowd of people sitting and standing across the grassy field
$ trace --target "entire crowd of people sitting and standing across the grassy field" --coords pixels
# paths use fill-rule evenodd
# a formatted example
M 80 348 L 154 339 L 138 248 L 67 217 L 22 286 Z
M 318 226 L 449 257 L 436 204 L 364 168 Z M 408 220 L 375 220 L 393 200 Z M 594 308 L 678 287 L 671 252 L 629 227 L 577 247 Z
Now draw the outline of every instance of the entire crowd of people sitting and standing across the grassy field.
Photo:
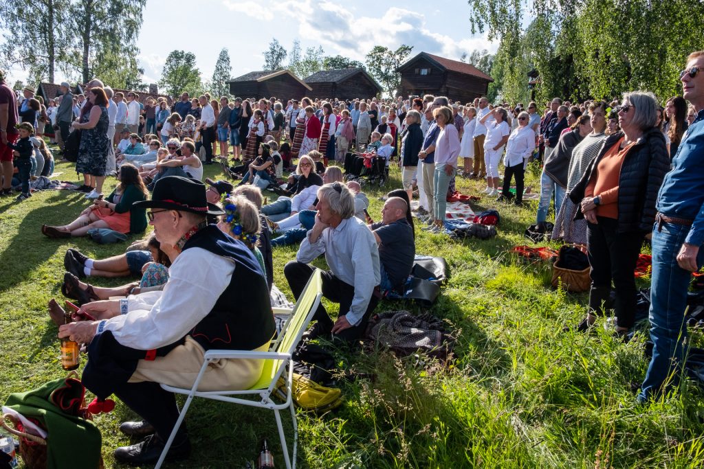
M 683 96 L 663 107 L 646 91 L 608 103 L 554 98 L 544 108 L 491 105 L 485 97 L 464 104 L 429 95 L 284 102 L 187 93 L 172 106 L 151 99 L 142 105 L 138 94 L 113 93 L 94 79 L 87 96 L 77 98 L 63 83 L 58 105 L 44 109 L 29 87 L 18 101 L 0 76 L 3 191 L 16 184 L 20 200 L 31 195 L 28 183 L 37 172 L 31 139 L 43 140 L 39 120 L 46 113 L 45 123 L 56 122 L 57 141 L 80 131 L 76 171 L 84 184 L 78 190 L 92 205 L 66 225 L 42 226 L 42 233 L 68 238 L 93 228 L 144 233 L 153 226 L 153 239 L 122 257 L 89 259 L 76 250 L 65 257 L 62 292 L 80 300 L 94 320 L 74 316 L 59 337 L 87 345 L 89 390 L 100 399 L 115 394 L 144 418 L 120 427 L 147 438 L 117 449 L 118 461 L 150 463 L 161 453 L 178 417 L 174 395 L 161 384 L 190 387 L 214 347 L 268 349 L 275 336 L 272 306 L 281 296 L 273 284 L 272 247 L 300 243 L 296 260 L 284 267 L 296 298 L 313 274 L 310 262 L 325 255 L 322 291 L 339 313 L 331 316 L 321 304 L 308 335 L 353 344 L 379 298 L 402 289 L 410 275 L 412 214 L 425 230 L 442 233 L 456 177 L 486 181 L 485 197 L 524 205 L 524 172 L 532 161 L 542 167 L 536 225 L 546 230 L 552 203 L 551 237 L 589 253 L 589 312 L 577 330 L 589 330 L 606 314 L 612 285 L 615 333 L 625 337 L 632 330 L 633 272 L 650 240 L 654 347 L 638 396 L 646 402 L 677 382 L 689 276 L 704 262 L 701 70 L 704 51 L 692 53 L 681 72 Z M 203 166 L 218 150 L 237 186 L 203 183 Z M 388 194 L 381 221 L 372 223 L 358 178 L 374 172 L 387 178 L 392 162 L 401 167 L 402 188 Z M 284 169 L 292 170 L 288 179 Z M 103 199 L 111 174 L 119 184 Z M 263 203 L 267 188 L 282 196 Z M 412 210 L 414 188 L 420 205 Z M 141 280 L 110 289 L 82 281 L 119 275 Z M 57 323 L 63 318 L 56 302 L 50 314 Z M 222 360 L 208 368 L 203 389 L 246 389 L 262 368 L 261 360 Z M 189 451 L 182 426 L 170 457 Z

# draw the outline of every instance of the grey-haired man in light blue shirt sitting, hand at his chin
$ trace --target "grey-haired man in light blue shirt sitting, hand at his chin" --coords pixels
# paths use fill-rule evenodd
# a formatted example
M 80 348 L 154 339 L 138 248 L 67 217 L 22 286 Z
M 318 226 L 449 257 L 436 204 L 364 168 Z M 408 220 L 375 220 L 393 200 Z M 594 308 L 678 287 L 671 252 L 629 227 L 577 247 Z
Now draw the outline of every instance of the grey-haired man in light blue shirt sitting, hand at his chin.
M 346 186 L 336 182 L 318 190 L 315 225 L 298 248 L 296 261 L 284 267 L 296 299 L 315 269 L 308 262 L 325 253 L 330 271 L 322 274 L 323 296 L 340 304 L 337 321 L 320 305 L 313 319 L 312 337 L 333 334 L 353 341 L 362 337 L 377 306 L 374 290 L 379 285 L 379 250 L 363 221 L 354 217 L 354 198 Z

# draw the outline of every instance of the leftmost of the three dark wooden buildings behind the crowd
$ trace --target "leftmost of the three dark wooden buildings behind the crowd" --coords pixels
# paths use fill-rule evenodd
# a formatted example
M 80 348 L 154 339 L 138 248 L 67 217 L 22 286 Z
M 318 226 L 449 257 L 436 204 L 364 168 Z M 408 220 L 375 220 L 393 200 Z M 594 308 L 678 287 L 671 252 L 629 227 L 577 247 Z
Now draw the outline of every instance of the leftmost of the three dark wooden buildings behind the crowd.
M 231 79 L 229 83 L 233 96 L 256 99 L 275 96 L 283 103 L 289 99 L 301 99 L 313 91 L 289 70 L 249 72 Z

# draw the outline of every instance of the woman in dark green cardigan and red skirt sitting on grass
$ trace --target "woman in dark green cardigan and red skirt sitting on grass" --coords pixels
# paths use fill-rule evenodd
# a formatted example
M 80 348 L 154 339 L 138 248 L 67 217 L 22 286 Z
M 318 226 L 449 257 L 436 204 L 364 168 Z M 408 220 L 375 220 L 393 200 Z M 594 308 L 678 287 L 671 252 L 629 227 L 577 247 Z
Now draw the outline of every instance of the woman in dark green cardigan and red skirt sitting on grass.
M 42 225 L 42 233 L 49 238 L 86 236 L 88 230 L 108 228 L 120 233 L 143 233 L 146 229 L 146 211 L 132 204 L 146 200 L 149 194 L 139 177 L 137 168 L 129 163 L 120 167 L 120 185 L 105 200 L 96 199 L 80 217 L 68 225 Z

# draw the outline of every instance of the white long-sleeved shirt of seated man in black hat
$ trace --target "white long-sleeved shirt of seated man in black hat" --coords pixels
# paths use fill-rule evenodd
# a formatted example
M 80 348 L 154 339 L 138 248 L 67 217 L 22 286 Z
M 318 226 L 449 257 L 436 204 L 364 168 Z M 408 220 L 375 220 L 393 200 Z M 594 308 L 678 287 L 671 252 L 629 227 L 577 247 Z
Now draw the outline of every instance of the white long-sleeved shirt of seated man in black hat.
M 201 248 L 182 252 L 161 292 L 127 297 L 127 314 L 108 319 L 121 345 L 151 350 L 180 340 L 215 306 L 234 273 L 234 262 Z

